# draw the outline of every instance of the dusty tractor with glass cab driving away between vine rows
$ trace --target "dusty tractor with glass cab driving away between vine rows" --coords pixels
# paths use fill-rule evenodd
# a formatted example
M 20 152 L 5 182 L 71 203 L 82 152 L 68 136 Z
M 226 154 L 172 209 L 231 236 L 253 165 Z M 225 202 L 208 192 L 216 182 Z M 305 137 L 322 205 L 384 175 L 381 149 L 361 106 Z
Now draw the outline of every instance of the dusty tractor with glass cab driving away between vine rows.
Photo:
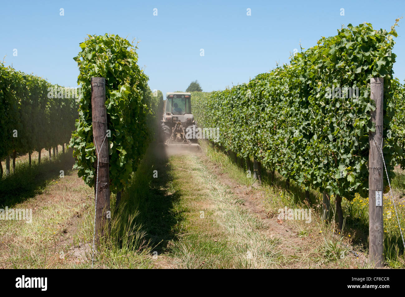
M 161 141 L 166 147 L 201 150 L 195 137 L 197 124 L 191 113 L 191 93 L 166 93 L 160 125 Z

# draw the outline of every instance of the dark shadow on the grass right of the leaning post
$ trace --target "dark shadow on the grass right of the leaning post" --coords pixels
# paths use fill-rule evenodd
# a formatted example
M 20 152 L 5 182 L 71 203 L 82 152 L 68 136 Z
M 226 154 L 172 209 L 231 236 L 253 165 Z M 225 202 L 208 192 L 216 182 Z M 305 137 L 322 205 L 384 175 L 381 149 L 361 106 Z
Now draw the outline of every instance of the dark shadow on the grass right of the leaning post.
M 122 193 L 121 203 L 125 209 L 120 209 L 121 219 L 136 214 L 133 224 L 141 226 L 148 246 L 158 254 L 165 252 L 168 242 L 176 238 L 177 224 L 182 220 L 181 212 L 174 207 L 180 194 L 172 190 L 173 176 L 168 158 L 164 147 L 151 143 Z

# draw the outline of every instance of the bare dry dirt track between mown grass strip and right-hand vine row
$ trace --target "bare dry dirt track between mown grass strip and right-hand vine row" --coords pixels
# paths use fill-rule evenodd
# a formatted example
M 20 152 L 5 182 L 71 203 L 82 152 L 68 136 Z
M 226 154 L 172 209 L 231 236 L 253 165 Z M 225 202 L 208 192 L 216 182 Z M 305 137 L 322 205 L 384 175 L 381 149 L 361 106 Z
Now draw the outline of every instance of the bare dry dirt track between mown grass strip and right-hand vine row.
M 219 153 L 221 154 L 221 153 Z M 324 236 L 320 228 L 316 227 L 319 222 L 312 222 L 311 228 L 301 228 L 296 222 L 279 220 L 277 213 L 269 212 L 265 207 L 265 200 L 269 199 L 264 189 L 257 183 L 246 186 L 237 182 L 227 172 L 229 168 L 224 168 L 206 154 L 201 154 L 200 158 L 208 171 L 218 177 L 221 184 L 226 185 L 237 199 L 243 200 L 243 207 L 253 216 L 260 219 L 264 224 L 262 232 L 268 238 L 276 238 L 280 241 L 279 260 L 283 268 L 337 268 L 337 267 L 362 267 L 365 256 L 361 252 L 353 254 L 346 252 L 341 262 L 325 261 Z M 270 197 L 270 199 L 272 199 Z M 319 217 L 313 216 L 313 221 Z M 306 224 L 304 224 L 306 225 Z M 302 226 L 302 224 L 301 224 Z M 300 230 L 301 229 L 301 230 Z M 302 231 L 302 232 L 300 232 Z M 340 259 L 339 259 L 340 260 Z

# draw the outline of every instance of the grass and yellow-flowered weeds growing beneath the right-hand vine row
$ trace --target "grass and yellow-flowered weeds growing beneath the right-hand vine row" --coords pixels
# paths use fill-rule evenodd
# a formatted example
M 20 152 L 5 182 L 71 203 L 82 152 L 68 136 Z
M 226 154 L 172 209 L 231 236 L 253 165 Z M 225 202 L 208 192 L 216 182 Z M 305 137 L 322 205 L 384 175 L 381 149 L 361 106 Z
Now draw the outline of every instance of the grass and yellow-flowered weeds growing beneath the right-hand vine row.
M 208 145 L 205 145 L 205 150 L 207 150 L 207 156 L 222 168 L 223 173 L 241 185 L 254 188 L 255 181 L 248 178 L 245 169 L 235 164 L 229 156 Z M 392 180 L 392 187 L 395 188 L 396 194 L 394 195 L 402 197 L 405 194 L 405 174 L 397 173 Z M 272 179 L 271 173 L 263 170 L 262 185 L 254 188 L 254 191 L 264 197 L 262 205 L 269 217 L 277 216 L 279 209 L 284 207 L 311 209 L 313 221 L 311 224 L 305 224 L 299 220 L 288 221 L 288 226 L 292 227 L 297 237 L 305 240 L 311 238 L 313 241 L 312 253 L 304 256 L 310 266 L 315 262 L 317 265 L 321 265 L 318 267 L 368 267 L 367 261 L 365 261 L 368 257 L 369 234 L 367 198 L 364 199 L 356 194 L 352 201 L 342 200 L 345 225 L 341 233 L 333 219 L 330 222 L 322 220 L 322 194 L 317 190 L 311 189 L 311 203 L 307 203 L 304 188 L 300 188 L 291 181 L 289 190 L 286 190 L 285 179 L 277 172 Z M 404 228 L 405 201 L 398 198 L 395 200 L 401 226 Z M 331 197 L 332 216 L 335 213 L 334 203 L 335 197 Z M 341 257 L 341 253 L 344 256 Z M 384 255 L 388 267 L 405 267 L 403 243 L 389 193 L 384 194 Z M 353 258 L 356 260 L 353 261 Z M 283 265 L 288 265 L 294 261 L 294 256 L 288 255 L 281 261 Z

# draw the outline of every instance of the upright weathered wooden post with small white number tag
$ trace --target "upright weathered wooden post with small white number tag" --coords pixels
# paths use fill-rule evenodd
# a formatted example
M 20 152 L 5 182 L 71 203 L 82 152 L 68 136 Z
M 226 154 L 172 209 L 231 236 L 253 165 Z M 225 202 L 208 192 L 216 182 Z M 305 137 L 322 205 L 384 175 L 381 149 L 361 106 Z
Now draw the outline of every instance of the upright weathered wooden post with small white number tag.
M 380 152 L 383 136 L 383 77 L 370 79 L 370 96 L 376 108 L 370 112 L 371 121 L 375 124 L 375 132 L 369 132 L 369 263 L 375 267 L 383 267 L 383 160 Z M 376 195 L 379 194 L 381 195 L 380 206 L 376 206 Z

